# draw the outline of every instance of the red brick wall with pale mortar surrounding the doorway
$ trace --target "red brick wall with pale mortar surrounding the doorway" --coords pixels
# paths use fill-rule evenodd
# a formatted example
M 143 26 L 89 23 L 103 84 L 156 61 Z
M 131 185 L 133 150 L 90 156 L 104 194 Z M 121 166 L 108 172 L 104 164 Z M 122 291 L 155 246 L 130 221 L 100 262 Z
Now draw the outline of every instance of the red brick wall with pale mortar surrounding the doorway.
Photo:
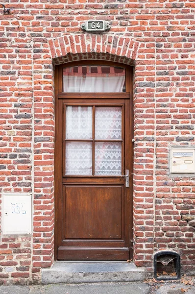
M 53 262 L 54 64 L 134 64 L 134 261 L 173 249 L 195 273 L 195 176 L 170 175 L 171 146 L 195 146 L 193 1 L 4 1 L 0 9 L 0 193 L 33 194 L 33 235 L 0 237 L 0 283 L 39 283 Z M 81 32 L 91 19 L 103 35 Z

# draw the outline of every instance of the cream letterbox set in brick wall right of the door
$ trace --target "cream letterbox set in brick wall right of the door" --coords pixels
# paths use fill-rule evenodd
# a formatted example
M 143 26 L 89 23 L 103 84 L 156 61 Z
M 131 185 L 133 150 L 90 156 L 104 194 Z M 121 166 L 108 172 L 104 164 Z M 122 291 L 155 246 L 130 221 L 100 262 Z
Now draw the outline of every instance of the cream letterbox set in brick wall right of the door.
M 195 172 L 195 149 L 171 149 L 171 172 Z

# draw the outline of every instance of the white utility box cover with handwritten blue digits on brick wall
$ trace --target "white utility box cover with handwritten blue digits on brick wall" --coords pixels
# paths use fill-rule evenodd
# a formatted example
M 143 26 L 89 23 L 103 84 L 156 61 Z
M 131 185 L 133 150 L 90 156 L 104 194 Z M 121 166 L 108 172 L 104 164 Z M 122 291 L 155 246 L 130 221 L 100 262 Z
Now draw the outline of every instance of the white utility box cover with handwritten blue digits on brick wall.
M 32 232 L 32 196 L 24 193 L 3 194 L 2 234 L 29 235 Z

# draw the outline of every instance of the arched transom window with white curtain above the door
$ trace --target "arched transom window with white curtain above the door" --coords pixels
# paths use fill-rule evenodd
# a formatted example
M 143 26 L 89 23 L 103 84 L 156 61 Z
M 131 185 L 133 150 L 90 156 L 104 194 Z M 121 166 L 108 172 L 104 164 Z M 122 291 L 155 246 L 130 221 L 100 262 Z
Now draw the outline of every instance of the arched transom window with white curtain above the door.
M 103 65 L 63 68 L 63 92 L 126 92 L 125 68 Z

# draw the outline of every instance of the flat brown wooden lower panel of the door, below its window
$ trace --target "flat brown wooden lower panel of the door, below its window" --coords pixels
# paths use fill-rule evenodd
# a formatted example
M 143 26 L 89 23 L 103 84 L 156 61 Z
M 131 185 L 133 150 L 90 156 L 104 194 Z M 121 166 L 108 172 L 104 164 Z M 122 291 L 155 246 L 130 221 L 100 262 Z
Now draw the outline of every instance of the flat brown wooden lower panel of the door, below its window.
M 122 186 L 66 186 L 65 239 L 121 239 Z

